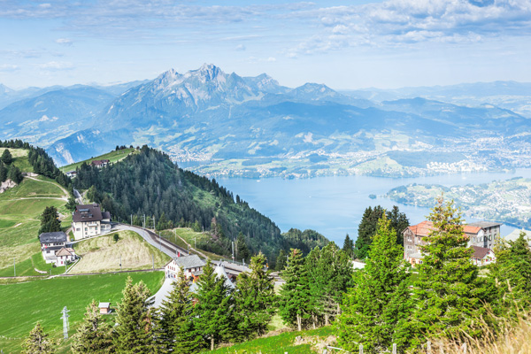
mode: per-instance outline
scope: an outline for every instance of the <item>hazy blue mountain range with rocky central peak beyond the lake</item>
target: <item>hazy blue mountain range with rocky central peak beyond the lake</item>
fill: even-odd
[[[207,175],[412,175],[430,173],[429,163],[459,161],[512,168],[531,163],[530,97],[531,84],[512,81],[290,89],[265,73],[242,77],[203,65],[108,87],[2,86],[0,139],[41,145],[59,165],[148,143]],[[426,163],[407,163],[422,151]]]

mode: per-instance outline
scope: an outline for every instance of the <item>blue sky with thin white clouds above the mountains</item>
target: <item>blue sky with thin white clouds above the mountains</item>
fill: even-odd
[[[12,89],[204,63],[289,87],[531,81],[531,0],[0,0],[0,34]]]

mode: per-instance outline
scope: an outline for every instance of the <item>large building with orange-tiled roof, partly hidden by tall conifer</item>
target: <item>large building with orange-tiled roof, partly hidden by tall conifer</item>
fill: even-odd
[[[463,225],[468,238],[468,246],[492,250],[492,245],[500,238],[499,223],[487,221]],[[422,221],[417,225],[406,227],[404,235],[404,259],[413,266],[422,263],[423,255],[419,246],[426,245],[426,237],[434,229],[431,221]]]

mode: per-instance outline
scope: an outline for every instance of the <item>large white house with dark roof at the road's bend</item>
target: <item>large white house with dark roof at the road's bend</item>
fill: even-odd
[[[111,231],[111,213],[102,212],[99,204],[77,205],[72,213],[72,232],[76,240]]]

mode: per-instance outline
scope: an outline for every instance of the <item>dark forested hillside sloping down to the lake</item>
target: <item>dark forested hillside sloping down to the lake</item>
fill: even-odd
[[[102,169],[81,165],[74,187],[89,189],[89,198],[101,203],[113,219],[129,220],[133,215],[140,225],[145,214],[148,225],[155,217],[158,229],[208,230],[212,240],[204,248],[220,254],[229,254],[240,233],[251,253],[261,250],[271,261],[279,250],[293,245],[271,219],[239,196],[215,180],[182,170],[165,153],[145,145],[138,154]]]

